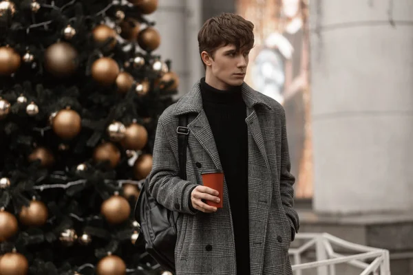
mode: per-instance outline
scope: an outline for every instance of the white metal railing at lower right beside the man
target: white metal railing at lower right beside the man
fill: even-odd
[[[293,256],[293,272],[302,275],[302,270],[317,268],[317,275],[336,275],[336,265],[347,263],[361,269],[360,275],[390,275],[390,256],[388,250],[370,248],[366,245],[350,243],[328,233],[299,233],[295,240],[302,242],[299,248],[290,248],[288,254]],[[354,251],[346,256],[332,249],[332,244]],[[310,248],[315,248],[316,261],[301,263],[301,255]],[[366,263],[366,260],[368,263]]]

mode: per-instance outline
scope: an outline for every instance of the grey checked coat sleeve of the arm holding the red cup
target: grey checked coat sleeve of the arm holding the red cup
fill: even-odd
[[[173,133],[177,135],[177,133]],[[190,192],[195,184],[180,179],[178,164],[178,146],[171,146],[162,122],[158,122],[153,144],[153,164],[149,173],[149,193],[162,206],[169,210],[187,214],[196,214],[190,208]],[[176,152],[173,151],[176,148]],[[174,154],[176,153],[176,154]]]

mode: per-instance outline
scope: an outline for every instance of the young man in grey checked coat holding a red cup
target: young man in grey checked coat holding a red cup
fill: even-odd
[[[284,109],[244,83],[253,23],[209,19],[198,34],[205,77],[159,118],[149,192],[178,211],[176,274],[292,274],[288,248],[299,229]],[[189,124],[187,180],[178,177],[178,119]],[[202,171],[224,171],[218,191]]]

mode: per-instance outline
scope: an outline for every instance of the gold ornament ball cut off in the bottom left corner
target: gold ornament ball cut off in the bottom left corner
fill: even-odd
[[[0,256],[1,275],[26,275],[28,270],[28,259],[22,254],[11,252]]]

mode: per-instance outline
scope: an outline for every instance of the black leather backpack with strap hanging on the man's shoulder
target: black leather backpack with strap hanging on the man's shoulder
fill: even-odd
[[[187,143],[189,129],[188,118],[181,115],[178,133],[178,155],[180,178],[187,179]],[[145,241],[145,249],[162,268],[169,272],[175,272],[175,245],[176,245],[176,221],[178,212],[173,212],[160,205],[151,197],[147,188],[148,178],[142,185],[138,201],[135,206],[135,219],[140,224],[140,234],[136,243]]]

